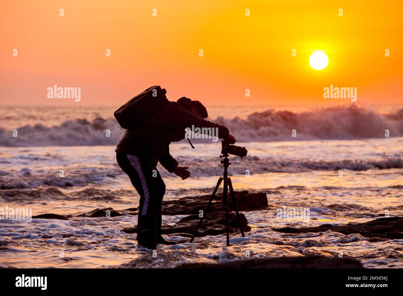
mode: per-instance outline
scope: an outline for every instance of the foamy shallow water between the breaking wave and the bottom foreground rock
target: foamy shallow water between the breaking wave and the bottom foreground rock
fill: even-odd
[[[359,234],[336,232],[283,234],[275,227],[345,224],[403,215],[403,138],[239,143],[244,159],[231,157],[235,190],[267,193],[269,208],[244,211],[250,232],[245,238],[171,236],[175,246],[160,246],[158,260],[137,246],[136,234],[121,232],[137,216],[0,220],[0,265],[3,267],[174,267],[183,262],[226,262],[250,257],[322,255],[353,257],[364,267],[403,267],[403,240],[368,242]],[[219,144],[171,144],[171,153],[190,166],[181,180],[159,168],[167,185],[165,199],[212,191],[222,173]],[[386,149],[388,147],[388,149]],[[138,206],[138,195],[117,167],[114,147],[0,148],[0,207],[27,207],[32,215],[77,215],[95,208]],[[383,151],[383,152],[379,152]],[[59,170],[64,170],[60,178]],[[250,171],[249,177],[245,170]],[[343,170],[343,177],[339,177]],[[44,191],[49,186],[57,190]],[[44,193],[45,192],[45,193]],[[276,209],[309,209],[309,219],[278,219]],[[164,215],[174,224],[184,215]],[[194,249],[194,246],[196,248]],[[134,261],[132,261],[134,260]]]

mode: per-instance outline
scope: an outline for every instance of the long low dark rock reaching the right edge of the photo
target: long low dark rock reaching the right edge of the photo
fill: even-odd
[[[379,218],[372,221],[359,224],[347,224],[332,226],[331,224],[323,224],[318,227],[283,227],[272,228],[274,231],[284,233],[307,233],[307,232],[324,232],[331,230],[332,232],[340,232],[342,234],[361,234],[368,238],[386,238],[386,239],[403,239],[403,217]]]

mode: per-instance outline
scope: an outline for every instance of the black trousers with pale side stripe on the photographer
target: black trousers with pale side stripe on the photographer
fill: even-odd
[[[161,237],[164,181],[155,161],[150,157],[116,153],[116,160],[140,195],[137,241],[143,246],[154,248],[158,238]]]

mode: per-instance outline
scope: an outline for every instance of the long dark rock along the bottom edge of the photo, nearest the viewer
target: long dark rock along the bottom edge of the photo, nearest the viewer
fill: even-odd
[[[177,268],[364,268],[350,258],[301,256],[280,258],[249,258],[226,263],[189,263]]]

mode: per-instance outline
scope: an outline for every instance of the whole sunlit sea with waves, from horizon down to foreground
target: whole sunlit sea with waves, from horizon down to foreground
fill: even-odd
[[[0,107],[1,209],[32,215],[79,215],[97,208],[138,207],[139,195],[116,164],[124,130],[116,106]],[[320,255],[350,257],[366,268],[403,267],[403,240],[370,242],[330,230],[285,234],[279,227],[362,223],[403,216],[403,106],[338,105],[326,108],[216,106],[209,118],[224,124],[246,157],[231,155],[236,191],[267,194],[269,207],[243,211],[245,237],[170,236],[176,245],[153,253],[123,228],[136,215],[60,219],[0,219],[0,267],[170,268],[251,258]],[[170,153],[190,178],[158,170],[165,200],[211,194],[222,176],[220,141],[171,143]],[[278,215],[303,209],[308,216]],[[292,211],[291,211],[292,212]],[[4,215],[3,215],[4,216]],[[173,225],[186,215],[163,215]]]

